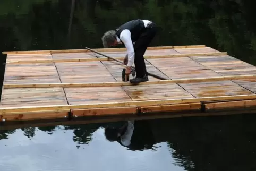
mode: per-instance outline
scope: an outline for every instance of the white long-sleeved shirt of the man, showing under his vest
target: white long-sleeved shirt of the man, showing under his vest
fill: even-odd
[[[147,24],[150,22],[149,20],[142,20],[144,22],[145,28],[147,27]],[[128,54],[128,63],[127,66],[132,66],[134,62],[134,49],[133,49],[133,42],[131,39],[131,32],[128,29],[123,30],[120,33],[120,39],[116,36],[118,44],[121,43],[120,39],[124,43],[125,47],[127,48],[127,54]]]

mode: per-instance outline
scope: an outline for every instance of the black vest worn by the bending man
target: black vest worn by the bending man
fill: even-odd
[[[136,40],[138,40],[141,33],[146,28],[145,28],[144,22],[140,19],[126,22],[116,29],[116,35],[118,36],[119,39],[120,39],[121,32],[125,29],[130,30],[132,42],[135,42]]]

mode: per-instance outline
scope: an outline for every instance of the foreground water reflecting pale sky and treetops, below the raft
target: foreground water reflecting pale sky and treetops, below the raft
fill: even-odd
[[[254,170],[255,124],[253,114],[134,121],[127,144],[107,140],[105,130],[125,132],[128,122],[16,129],[0,134],[0,165],[4,170],[26,168],[28,162],[29,170]]]

